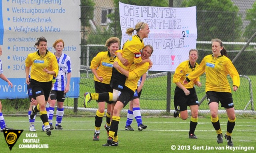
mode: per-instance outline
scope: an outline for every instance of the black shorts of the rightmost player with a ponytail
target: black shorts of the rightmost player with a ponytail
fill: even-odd
[[[206,95],[207,95],[208,105],[211,102],[218,102],[218,103],[220,102],[221,107],[224,107],[224,108],[234,107],[232,94],[230,92],[207,91]]]

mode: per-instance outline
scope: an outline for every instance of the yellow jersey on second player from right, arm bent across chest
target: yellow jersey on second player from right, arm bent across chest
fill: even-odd
[[[188,84],[183,84],[183,80],[193,71],[195,71],[198,68],[198,63],[195,64],[194,67],[192,67],[190,65],[189,60],[184,61],[182,63],[180,63],[178,65],[178,67],[175,70],[175,73],[173,75],[173,83],[177,83],[180,82],[185,88],[189,89],[189,88],[193,88],[195,82],[200,82],[200,78],[196,77],[192,80],[190,80],[190,82],[188,82]]]

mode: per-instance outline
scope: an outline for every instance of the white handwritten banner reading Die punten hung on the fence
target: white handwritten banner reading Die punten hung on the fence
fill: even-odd
[[[165,8],[119,2],[119,11],[121,46],[130,37],[125,33],[127,28],[134,28],[138,22],[149,25],[150,33],[144,44],[154,48],[150,71],[175,71],[182,61],[188,59],[189,50],[196,49],[196,6]]]

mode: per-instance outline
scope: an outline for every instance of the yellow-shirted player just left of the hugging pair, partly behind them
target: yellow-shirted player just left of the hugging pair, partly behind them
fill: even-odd
[[[112,75],[112,67],[113,63],[116,60],[115,52],[120,47],[120,40],[118,37],[110,37],[105,46],[107,47],[107,51],[102,51],[98,53],[91,61],[91,70],[94,74],[94,88],[96,93],[102,92],[112,92],[112,88],[110,87],[110,78]],[[111,111],[111,101],[108,100],[97,100],[98,102],[98,110],[95,116],[95,131],[93,140],[98,141],[100,135],[100,126],[102,124],[102,119],[105,111],[105,102],[107,103],[107,113],[106,113],[106,124],[105,129],[110,128],[110,111]]]

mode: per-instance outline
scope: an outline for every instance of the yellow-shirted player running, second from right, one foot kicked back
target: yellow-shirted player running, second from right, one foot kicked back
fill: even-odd
[[[201,87],[202,83],[200,82],[199,77],[194,78],[190,81],[189,84],[183,84],[183,80],[187,75],[192,73],[198,68],[198,63],[196,60],[198,59],[198,50],[190,49],[188,54],[189,60],[184,61],[178,65],[173,75],[173,80],[176,84],[176,88],[174,91],[174,117],[179,116],[182,120],[188,119],[188,109],[190,107],[191,110],[191,118],[190,118],[190,129],[188,132],[188,138],[197,139],[194,131],[196,129],[196,125],[198,122],[198,107],[199,102],[196,95],[196,90],[194,88],[194,84]]]

